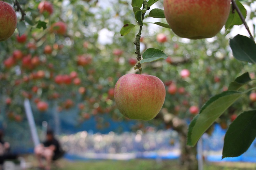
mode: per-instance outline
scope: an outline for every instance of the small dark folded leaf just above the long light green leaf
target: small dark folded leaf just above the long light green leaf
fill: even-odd
[[[252,79],[248,72],[240,75],[233,82],[231,82],[228,86],[228,90],[239,90],[240,87],[250,82]]]

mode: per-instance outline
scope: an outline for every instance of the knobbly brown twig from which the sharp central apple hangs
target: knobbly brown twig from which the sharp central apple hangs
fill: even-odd
[[[146,6],[148,6],[148,3],[146,0],[143,1],[143,9],[146,8]],[[149,10],[149,7],[147,7],[147,10]],[[142,14],[142,21],[144,20],[145,17],[145,13]],[[134,45],[136,46],[136,51],[135,54],[137,54],[137,64],[134,66],[134,70],[138,69],[140,71],[140,74],[142,73],[142,66],[141,66],[141,53],[140,53],[140,38],[141,38],[141,32],[142,32],[142,25],[140,25],[140,30],[139,33],[136,35],[135,41],[133,42]]]

